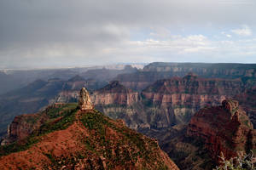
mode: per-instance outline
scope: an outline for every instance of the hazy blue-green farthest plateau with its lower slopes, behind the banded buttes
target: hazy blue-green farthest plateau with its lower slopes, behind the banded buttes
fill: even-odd
[[[143,90],[157,80],[184,77],[189,72],[205,78],[241,78],[246,86],[256,85],[256,65],[249,64],[202,64],[202,63],[151,63],[143,71],[123,74],[115,78],[127,88]]]

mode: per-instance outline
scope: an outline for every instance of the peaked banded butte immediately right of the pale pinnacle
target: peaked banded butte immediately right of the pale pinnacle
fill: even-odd
[[[140,94],[119,82],[110,82],[106,87],[96,90],[91,100],[97,110],[113,119],[123,119],[128,127],[149,127]]]

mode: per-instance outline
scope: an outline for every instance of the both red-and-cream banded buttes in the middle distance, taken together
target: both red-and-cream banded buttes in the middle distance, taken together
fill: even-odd
[[[206,79],[189,74],[157,81],[140,94],[112,82],[97,90],[92,101],[97,109],[125,120],[131,128],[166,128],[189,122],[201,107],[219,105],[243,89],[239,79]]]

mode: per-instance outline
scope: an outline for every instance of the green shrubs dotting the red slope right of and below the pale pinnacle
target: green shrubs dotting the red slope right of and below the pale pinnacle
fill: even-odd
[[[119,127],[107,116],[103,116],[101,112],[88,112],[80,117],[84,127],[90,129],[94,135],[84,137],[83,142],[92,154],[104,156],[107,158],[107,167],[111,168],[116,165],[130,164],[135,165],[138,159],[150,161],[158,161],[157,143],[148,138],[144,138],[143,134],[137,133],[128,127]],[[107,129],[113,129],[113,133],[118,133],[118,139],[110,139]],[[97,141],[97,142],[96,142]],[[135,144],[136,147],[129,146]],[[127,166],[128,166],[127,164]],[[158,169],[166,169],[163,162],[158,162]]]

